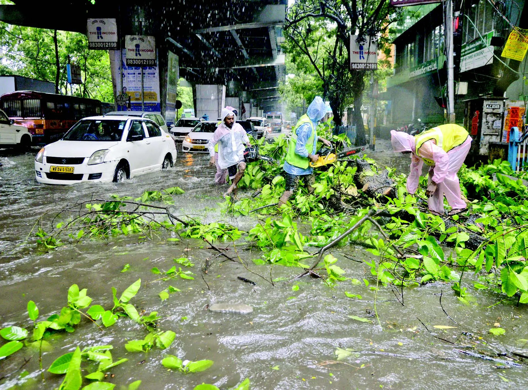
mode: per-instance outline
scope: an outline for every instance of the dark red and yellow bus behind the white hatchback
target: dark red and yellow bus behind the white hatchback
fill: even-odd
[[[101,115],[99,100],[35,91],[4,93],[0,108],[26,127],[36,144],[56,141],[78,120]]]

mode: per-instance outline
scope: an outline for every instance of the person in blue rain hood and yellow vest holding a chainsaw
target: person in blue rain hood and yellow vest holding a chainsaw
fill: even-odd
[[[310,160],[316,162],[319,158],[319,155],[315,154],[317,141],[323,142],[328,147],[331,146],[328,140],[317,137],[316,132],[317,122],[323,119],[325,114],[325,102],[320,96],[315,96],[313,102],[308,106],[306,114],[301,116],[294,128],[291,129],[288,153],[282,167],[284,169],[286,188],[279,199],[279,207],[282,204],[286,204],[288,198],[297,190],[300,177],[305,178],[304,184],[308,187],[309,192],[314,190],[312,187],[315,182],[313,168],[308,163]]]

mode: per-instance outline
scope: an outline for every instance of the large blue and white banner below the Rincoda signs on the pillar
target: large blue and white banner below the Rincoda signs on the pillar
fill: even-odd
[[[115,53],[113,61],[115,66],[114,74],[120,74],[122,80],[121,85],[119,83],[116,85],[118,111],[126,111],[128,109],[128,101],[130,102],[130,110],[141,111],[142,71],[143,93],[145,96],[144,111],[161,111],[159,100],[159,70],[157,65],[145,66],[143,68],[139,66],[128,66],[126,65],[126,50],[116,50],[113,53]],[[119,87],[121,87],[121,91],[119,91]]]

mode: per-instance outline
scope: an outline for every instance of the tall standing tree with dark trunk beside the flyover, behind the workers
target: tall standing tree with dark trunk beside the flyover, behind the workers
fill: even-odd
[[[365,70],[349,71],[350,36],[380,35],[397,20],[386,0],[296,0],[288,9],[284,33],[287,50],[304,55],[323,82],[323,91],[341,124],[348,102],[354,106],[358,144],[365,144],[361,116]]]

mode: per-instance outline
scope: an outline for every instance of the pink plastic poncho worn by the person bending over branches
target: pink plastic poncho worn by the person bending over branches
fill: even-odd
[[[466,159],[471,147],[471,137],[468,137],[461,145],[451,149],[449,152],[438,147],[433,140],[424,142],[420,147],[420,154],[435,162],[429,168],[428,184],[434,181],[437,184],[436,191],[428,199],[429,210],[439,214],[444,213],[444,195],[449,206],[453,209],[466,208],[466,202],[462,200],[460,182],[457,173]],[[420,174],[422,172],[423,160],[416,154],[414,137],[402,131],[391,131],[391,143],[394,152],[412,152],[411,169],[407,177],[407,191],[414,193],[418,189]]]

